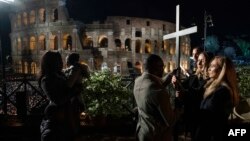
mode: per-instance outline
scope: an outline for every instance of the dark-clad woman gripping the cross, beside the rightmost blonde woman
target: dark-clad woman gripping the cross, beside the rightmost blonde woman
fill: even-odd
[[[203,87],[208,80],[207,69],[212,57],[207,52],[201,52],[197,57],[195,74],[190,74],[182,82],[173,79],[175,76],[172,78],[172,84],[180,93],[181,101],[184,104],[184,133],[186,136],[190,133],[191,139],[194,139],[196,133],[200,104],[204,94]]]

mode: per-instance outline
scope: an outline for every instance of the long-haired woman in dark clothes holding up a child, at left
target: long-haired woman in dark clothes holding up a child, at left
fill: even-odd
[[[49,104],[40,125],[41,141],[73,140],[68,118],[71,96],[62,68],[63,62],[59,52],[48,51],[43,55],[38,83],[48,97]]]

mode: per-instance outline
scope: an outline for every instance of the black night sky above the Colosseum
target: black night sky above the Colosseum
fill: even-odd
[[[198,2],[197,2],[198,1]],[[203,37],[204,12],[212,16],[214,27],[208,35],[250,34],[250,4],[247,0],[68,0],[72,18],[89,22],[110,16],[135,16],[175,22],[175,8],[180,4],[180,23],[198,26],[195,42]]]

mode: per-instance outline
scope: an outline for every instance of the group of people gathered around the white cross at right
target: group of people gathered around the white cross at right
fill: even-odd
[[[163,60],[154,54],[147,58],[134,86],[138,141],[178,141],[180,126],[192,141],[225,140],[229,115],[239,102],[234,64],[199,48],[192,59],[191,70],[180,78],[177,70],[163,77]]]

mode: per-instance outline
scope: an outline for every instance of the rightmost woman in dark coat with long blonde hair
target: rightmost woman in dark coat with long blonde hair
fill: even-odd
[[[229,115],[239,102],[236,71],[229,58],[216,56],[210,63],[208,76],[194,140],[223,141]]]

